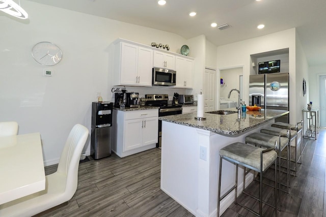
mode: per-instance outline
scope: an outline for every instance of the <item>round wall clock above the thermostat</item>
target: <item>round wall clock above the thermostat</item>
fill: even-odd
[[[32,48],[32,56],[42,66],[54,66],[61,61],[62,50],[51,42],[40,42]]]

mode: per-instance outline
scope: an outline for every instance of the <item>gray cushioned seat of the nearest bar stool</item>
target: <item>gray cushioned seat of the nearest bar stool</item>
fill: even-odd
[[[220,156],[233,159],[239,163],[255,168],[256,171],[260,171],[260,152],[262,150],[264,150],[264,148],[247,145],[241,142],[235,142],[222,148],[220,150]],[[273,164],[276,158],[276,151],[268,151],[263,153],[263,171]]]

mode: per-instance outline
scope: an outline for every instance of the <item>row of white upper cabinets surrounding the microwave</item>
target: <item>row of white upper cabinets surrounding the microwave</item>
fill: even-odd
[[[152,68],[177,72],[174,88],[192,88],[194,58],[117,39],[114,47],[114,85],[152,86]]]

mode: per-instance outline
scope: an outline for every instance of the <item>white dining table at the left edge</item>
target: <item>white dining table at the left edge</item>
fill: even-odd
[[[0,137],[0,204],[44,189],[40,133]]]

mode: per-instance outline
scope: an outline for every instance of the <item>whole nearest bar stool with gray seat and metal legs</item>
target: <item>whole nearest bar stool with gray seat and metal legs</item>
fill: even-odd
[[[275,145],[271,148],[259,148],[252,145],[247,145],[241,142],[235,142],[220,150],[220,171],[219,171],[219,190],[218,190],[218,217],[220,216],[220,202],[225,198],[229,193],[235,190],[234,193],[234,204],[239,204],[241,207],[253,212],[258,216],[262,216],[262,186],[263,186],[263,172],[265,172],[273,163],[276,164],[277,153],[275,151],[277,146],[277,141]],[[236,164],[235,167],[235,184],[221,197],[221,177],[222,177],[222,159]],[[247,206],[244,206],[240,203],[237,203],[237,183],[238,183],[238,166],[241,165],[244,167],[243,176],[246,176],[246,168],[257,171],[260,173],[259,181],[259,198],[254,197],[244,191],[245,184],[243,183],[243,193],[259,201],[259,213],[250,209]],[[275,206],[268,204],[267,205],[275,208],[275,216],[277,216],[277,178],[276,178],[276,167],[275,167],[275,187],[274,187],[274,196],[275,196]],[[245,178],[244,178],[245,179]]]

